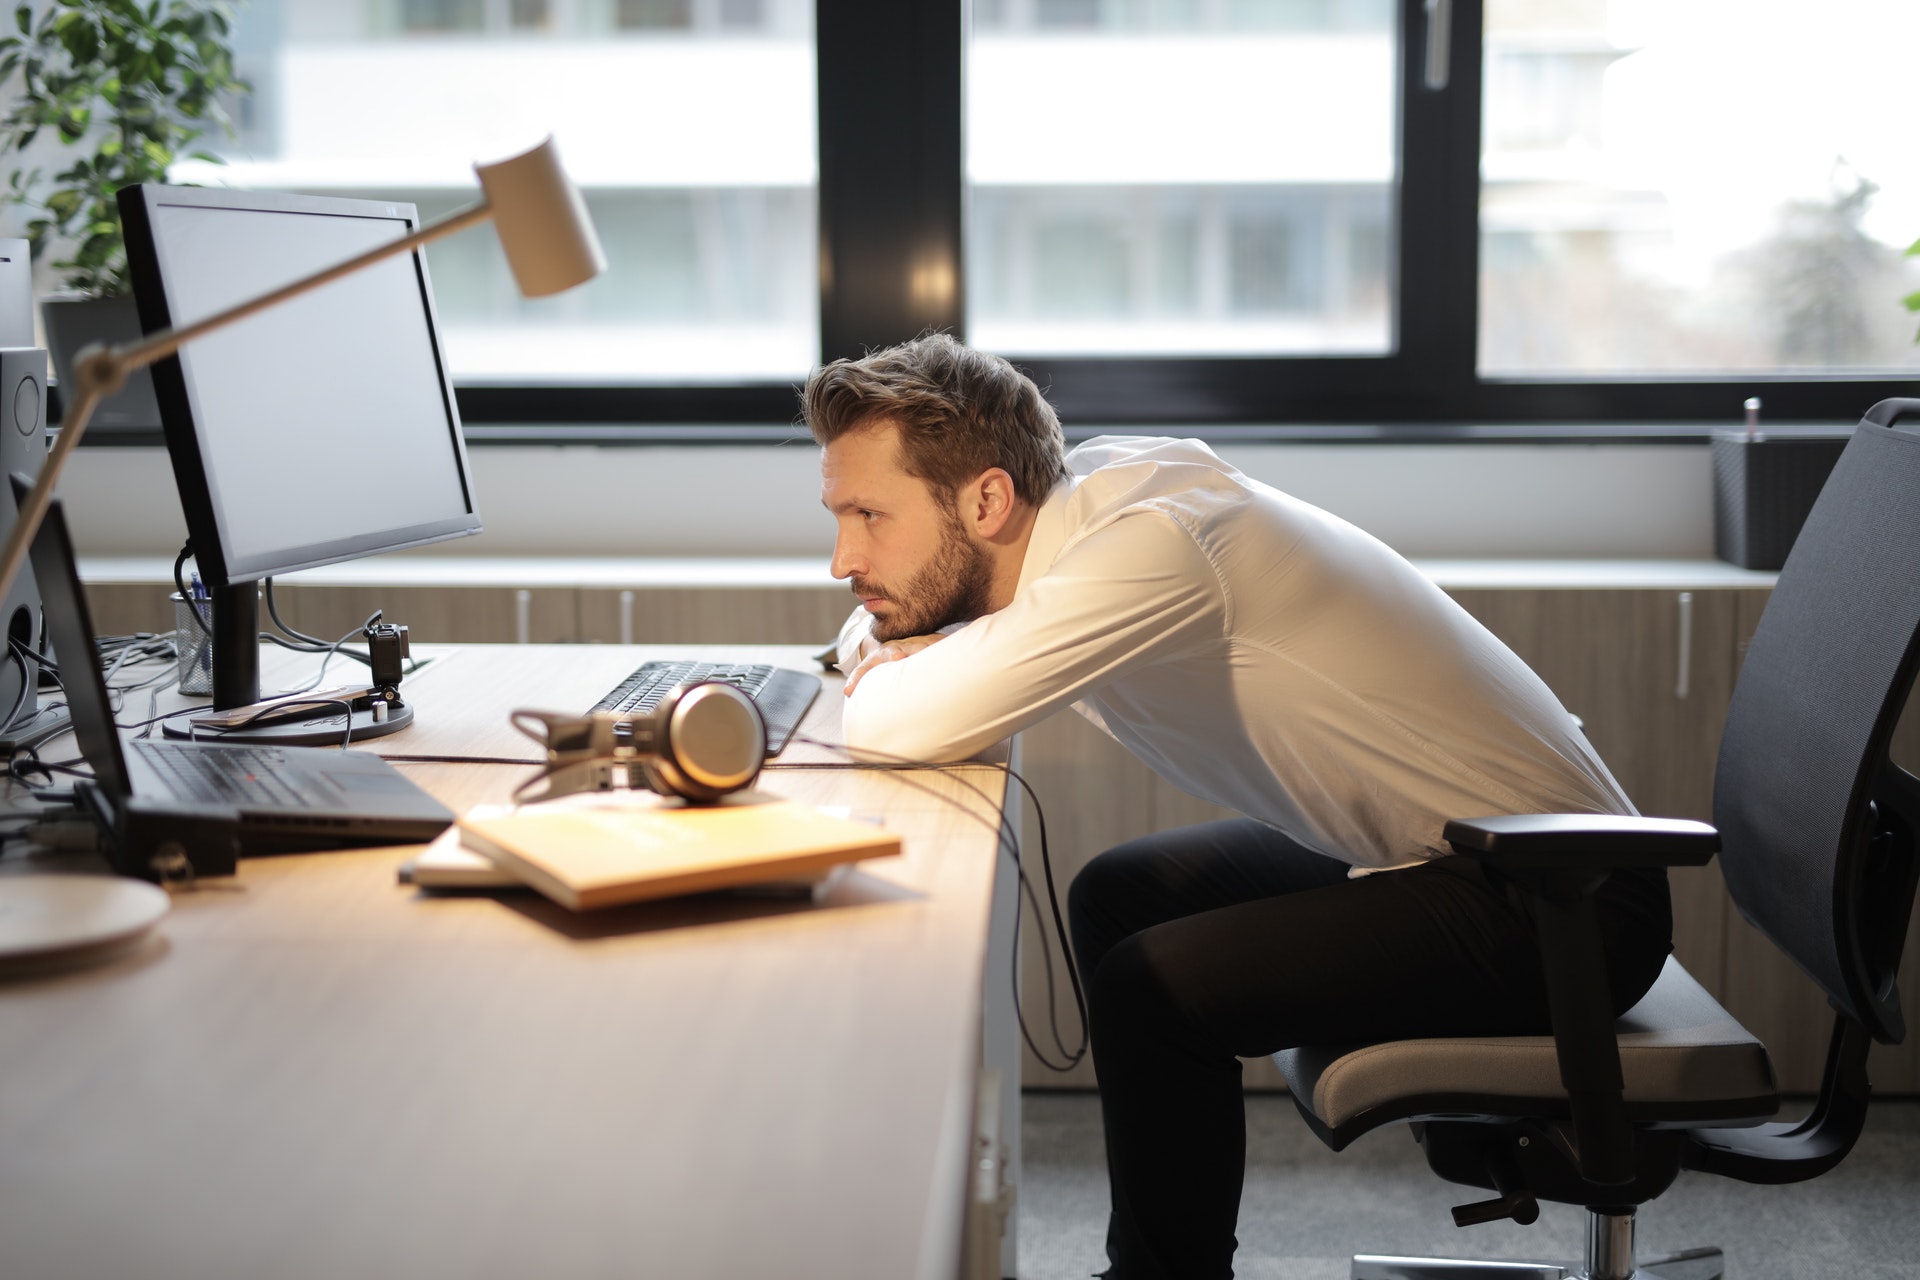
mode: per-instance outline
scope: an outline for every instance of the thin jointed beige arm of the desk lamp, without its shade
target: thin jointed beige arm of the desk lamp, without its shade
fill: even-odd
[[[361,267],[372,267],[374,263],[396,257],[397,253],[407,253],[442,236],[451,236],[457,230],[465,230],[486,219],[493,217],[493,207],[486,200],[480,203],[461,209],[459,213],[449,213],[447,217],[422,226],[411,236],[401,236],[378,248],[367,249],[359,257],[349,257],[344,263],[336,263],[323,271],[313,273],[292,284],[282,284],[271,294],[261,294],[252,301],[238,303],[227,311],[217,311],[204,320],[194,320],[184,328],[163,328],[157,334],[148,334],[140,342],[125,347],[100,347],[92,345],[79,353],[73,361],[73,390],[77,391],[73,407],[61,416],[60,436],[54,438],[54,447],[48,449],[46,461],[40,462],[40,476],[33,484],[33,491],[19,505],[13,514],[13,528],[8,532],[6,547],[0,547],[0,597],[13,587],[13,580],[19,576],[19,566],[27,560],[27,547],[33,543],[33,535],[40,530],[40,520],[46,518],[46,505],[54,501],[54,486],[60,484],[60,472],[67,464],[67,455],[73,453],[73,445],[81,443],[81,436],[86,432],[86,422],[94,416],[94,409],[108,395],[113,395],[127,384],[127,376],[146,368],[154,361],[167,359],[182,345],[194,338],[204,338],[217,328],[225,328],[234,320],[244,320],[250,315],[267,311],[269,307],[278,307],[280,303],[315,290],[323,284],[332,284],[342,276],[349,276]],[[6,486],[6,478],[0,476],[0,486]]]

